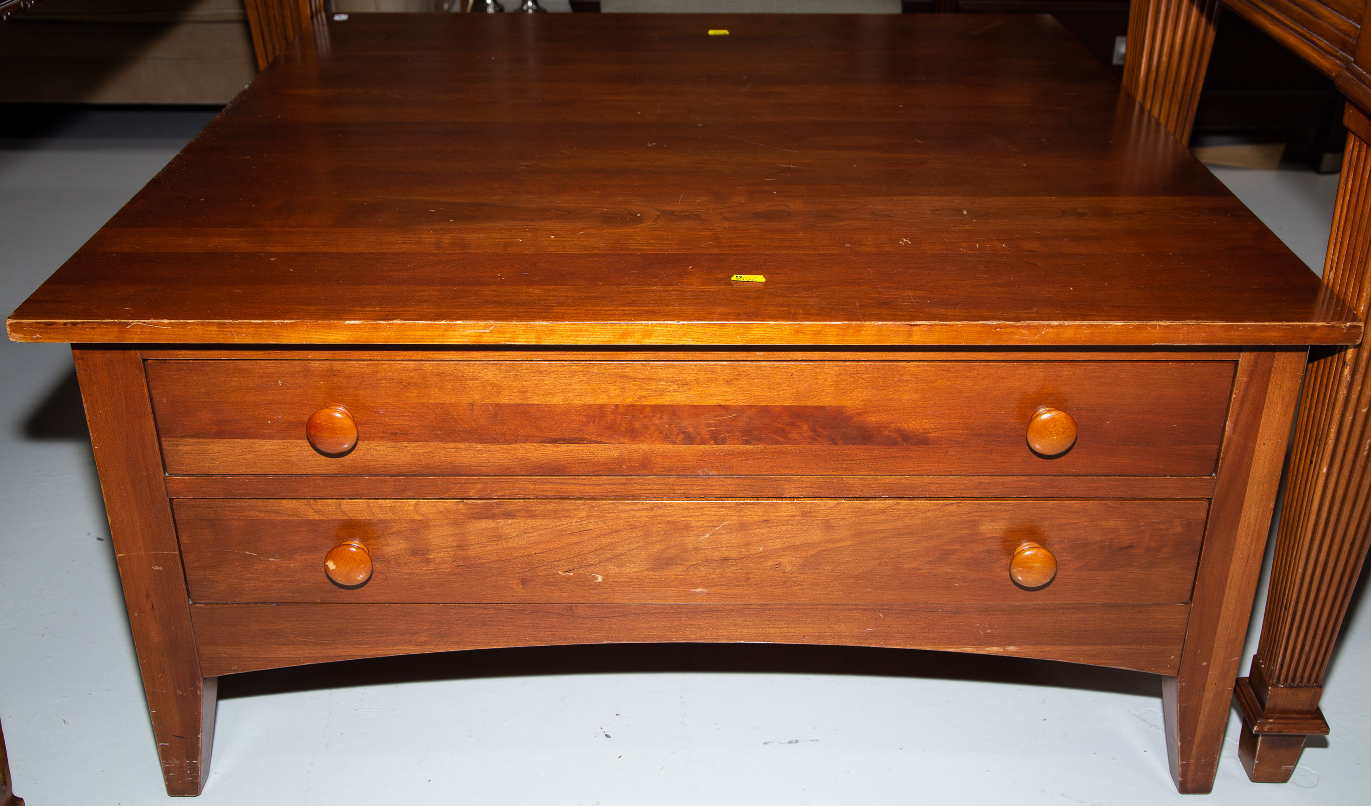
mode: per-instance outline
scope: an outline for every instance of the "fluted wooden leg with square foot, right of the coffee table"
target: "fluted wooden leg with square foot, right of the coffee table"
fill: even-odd
[[[1352,107],[1323,282],[1371,308],[1371,121]],[[1238,680],[1239,757],[1254,781],[1290,780],[1305,736],[1328,732],[1323,676],[1371,544],[1371,348],[1315,348],[1305,374],[1261,640]]]

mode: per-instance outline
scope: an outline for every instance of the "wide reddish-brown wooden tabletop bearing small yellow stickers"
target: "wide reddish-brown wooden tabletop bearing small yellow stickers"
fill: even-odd
[[[1052,18],[990,15],[330,22],[8,329],[239,344],[1361,336]]]

